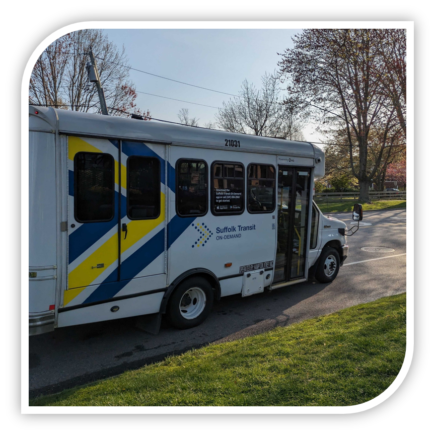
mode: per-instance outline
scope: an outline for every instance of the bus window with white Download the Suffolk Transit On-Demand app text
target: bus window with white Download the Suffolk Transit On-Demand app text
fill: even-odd
[[[236,162],[213,162],[211,166],[211,212],[241,214],[245,209],[245,168]]]

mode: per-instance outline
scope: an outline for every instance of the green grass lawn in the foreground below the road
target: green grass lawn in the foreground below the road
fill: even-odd
[[[401,294],[172,356],[30,405],[356,405],[394,381],[405,338]]]

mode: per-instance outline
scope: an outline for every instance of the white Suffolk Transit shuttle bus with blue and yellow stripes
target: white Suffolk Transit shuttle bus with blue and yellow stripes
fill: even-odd
[[[347,229],[313,202],[324,168],[308,142],[29,106],[29,334],[189,328],[224,296],[332,281]]]

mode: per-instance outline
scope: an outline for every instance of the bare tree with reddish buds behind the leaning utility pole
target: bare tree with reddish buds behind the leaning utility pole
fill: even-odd
[[[29,102],[81,112],[100,112],[97,88],[88,81],[86,63],[92,47],[109,114],[150,116],[135,104],[125,49],[118,49],[100,29],[71,32],[50,44],[36,61],[29,83]]]

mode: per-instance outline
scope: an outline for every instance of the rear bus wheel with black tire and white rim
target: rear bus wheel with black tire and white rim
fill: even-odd
[[[213,289],[205,278],[197,276],[188,278],[177,286],[168,302],[166,313],[172,326],[188,329],[200,325],[210,314],[212,306]]]

